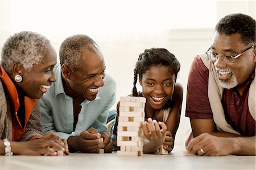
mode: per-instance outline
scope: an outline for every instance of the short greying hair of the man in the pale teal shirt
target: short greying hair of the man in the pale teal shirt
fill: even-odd
[[[97,47],[96,42],[87,35],[78,34],[70,36],[60,45],[60,64],[67,65],[71,72],[75,72],[76,69],[82,67],[80,61],[82,51],[88,49],[91,52],[96,52]]]

